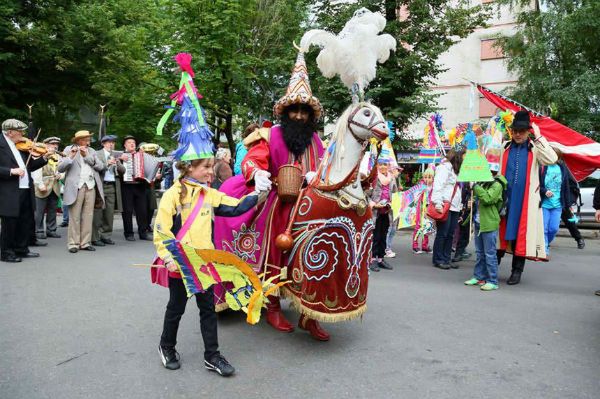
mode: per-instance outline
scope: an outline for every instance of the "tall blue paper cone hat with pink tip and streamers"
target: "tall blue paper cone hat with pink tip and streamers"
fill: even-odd
[[[214,156],[213,132],[206,123],[204,110],[200,107],[198,90],[194,85],[194,71],[192,69],[192,56],[188,53],[179,53],[175,61],[181,70],[179,90],[171,95],[171,105],[156,126],[156,135],[161,136],[163,129],[177,105],[181,106],[179,113],[173,118],[181,124],[175,134],[179,142],[178,148],[173,152],[173,158],[180,161],[212,158]]]

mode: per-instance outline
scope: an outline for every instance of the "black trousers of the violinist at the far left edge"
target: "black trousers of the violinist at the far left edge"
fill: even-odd
[[[24,254],[29,252],[29,240],[33,233],[35,237],[35,223],[33,204],[31,203],[30,189],[19,189],[19,216],[3,216],[0,220],[0,247],[2,256],[9,254]]]

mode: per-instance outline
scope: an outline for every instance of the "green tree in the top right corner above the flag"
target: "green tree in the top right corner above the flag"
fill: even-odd
[[[598,139],[600,134],[600,2],[548,0],[521,6],[514,36],[503,38],[509,68],[519,76],[515,100]]]

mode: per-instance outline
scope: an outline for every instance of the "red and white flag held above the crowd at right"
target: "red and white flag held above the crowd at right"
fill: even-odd
[[[487,87],[478,84],[477,88],[485,98],[502,110],[528,111],[531,122],[539,126],[542,136],[552,147],[563,153],[565,163],[577,181],[585,179],[600,168],[599,143]]]

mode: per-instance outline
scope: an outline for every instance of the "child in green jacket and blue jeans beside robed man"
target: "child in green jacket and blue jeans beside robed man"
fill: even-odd
[[[500,227],[500,210],[504,203],[507,181],[499,174],[500,164],[490,162],[494,176],[491,182],[477,183],[473,187],[473,225],[477,262],[473,277],[465,285],[480,286],[482,291],[498,289],[498,258],[496,241]]]

